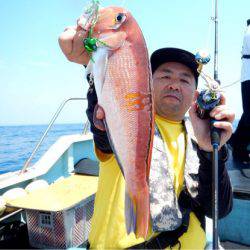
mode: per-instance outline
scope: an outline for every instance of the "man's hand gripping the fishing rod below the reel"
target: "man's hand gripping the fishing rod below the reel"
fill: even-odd
[[[213,147],[211,145],[210,139],[210,122],[209,119],[200,119],[197,116],[197,104],[196,100],[199,92],[195,92],[194,100],[189,110],[189,116],[193,125],[194,135],[197,139],[197,143],[200,149],[212,152]],[[235,114],[232,110],[226,106],[225,96],[221,94],[220,105],[216,106],[210,112],[211,118],[217,120],[214,123],[216,128],[221,129],[221,140],[219,149],[229,140],[232,135],[233,127],[232,123],[234,121]]]

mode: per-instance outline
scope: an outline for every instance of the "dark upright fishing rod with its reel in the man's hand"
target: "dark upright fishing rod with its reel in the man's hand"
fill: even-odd
[[[210,61],[206,51],[199,51],[195,58],[199,64],[198,72],[206,82],[206,90],[202,90],[197,98],[197,115],[201,119],[210,119],[210,138],[213,147],[212,160],[212,218],[213,218],[213,249],[219,249],[218,237],[218,148],[220,145],[220,130],[214,127],[215,119],[209,113],[220,104],[220,82],[218,79],[218,0],[215,1],[215,13],[212,20],[215,25],[214,38],[214,77],[211,78],[202,71],[203,65]]]

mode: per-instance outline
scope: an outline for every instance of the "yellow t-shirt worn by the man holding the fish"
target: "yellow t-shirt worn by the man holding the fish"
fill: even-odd
[[[174,186],[179,195],[183,186],[185,164],[185,130],[182,123],[156,116],[156,124],[165,141],[169,163],[174,168]],[[125,181],[114,155],[96,150],[100,159],[98,190],[95,198],[92,227],[89,234],[91,248],[128,248],[140,244],[134,233],[127,235],[125,226]],[[148,239],[156,234],[150,227]],[[188,231],[180,237],[181,249],[204,249],[205,232],[194,213],[190,213]],[[178,249],[174,247],[173,249]]]

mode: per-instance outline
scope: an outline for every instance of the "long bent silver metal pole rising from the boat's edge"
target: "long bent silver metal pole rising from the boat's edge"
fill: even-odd
[[[66,99],[64,100],[61,105],[59,106],[58,110],[56,111],[56,113],[54,114],[54,116],[52,117],[50,123],[49,123],[49,126],[47,127],[46,131],[43,133],[43,136],[42,138],[40,139],[40,141],[37,143],[35,149],[33,150],[33,152],[31,153],[31,156],[29,157],[29,159],[25,162],[20,174],[24,173],[26,168],[29,166],[31,160],[33,159],[35,153],[37,152],[38,148],[40,147],[40,145],[42,144],[42,142],[44,141],[44,138],[46,137],[46,135],[48,134],[50,128],[52,127],[52,125],[54,124],[56,118],[58,117],[58,115],[60,114],[60,112],[62,111],[63,107],[65,106],[65,104],[68,102],[68,101],[72,101],[72,100],[86,100],[86,98],[69,98],[69,99]]]

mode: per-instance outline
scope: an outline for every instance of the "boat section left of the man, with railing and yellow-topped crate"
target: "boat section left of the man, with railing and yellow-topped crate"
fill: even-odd
[[[60,105],[23,169],[0,175],[0,195],[7,197],[8,200],[5,211],[0,216],[1,249],[69,248],[86,244],[99,172],[98,162],[93,151],[93,137],[88,132],[87,126],[85,126],[82,134],[60,137],[35,164],[29,166],[64,105],[68,101],[79,99],[84,100],[84,98],[70,98]],[[38,183],[40,187],[36,185]],[[44,183],[47,183],[47,185],[44,185]],[[29,190],[32,185],[35,190]],[[77,190],[78,188],[80,191]],[[17,195],[20,190],[27,190],[27,193],[20,197]],[[9,195],[10,192],[12,192],[11,195]],[[17,196],[15,197],[15,195]],[[36,197],[38,199],[32,201],[32,195],[33,199]],[[72,196],[74,196],[73,200]],[[61,219],[65,220],[65,223],[64,225],[60,223],[54,225],[55,230],[51,231],[54,239],[50,237],[51,240],[48,241],[39,225],[33,228],[30,220],[34,217],[34,213],[39,218],[45,216],[46,220],[50,217],[54,220],[54,215],[61,214]],[[84,213],[86,213],[85,217],[83,216]],[[79,221],[73,222],[77,216]],[[66,228],[65,225],[70,224],[70,219],[72,225]],[[49,228],[53,223],[43,226]],[[68,232],[72,229],[76,229],[76,233],[80,234],[75,240],[73,239],[74,235],[70,239],[67,237]],[[33,235],[35,238],[31,239],[34,230],[41,231],[37,235]],[[58,233],[56,230],[58,230]],[[63,230],[65,232],[60,233]],[[60,234],[64,234],[63,237]],[[61,245],[58,245],[58,242]]]

